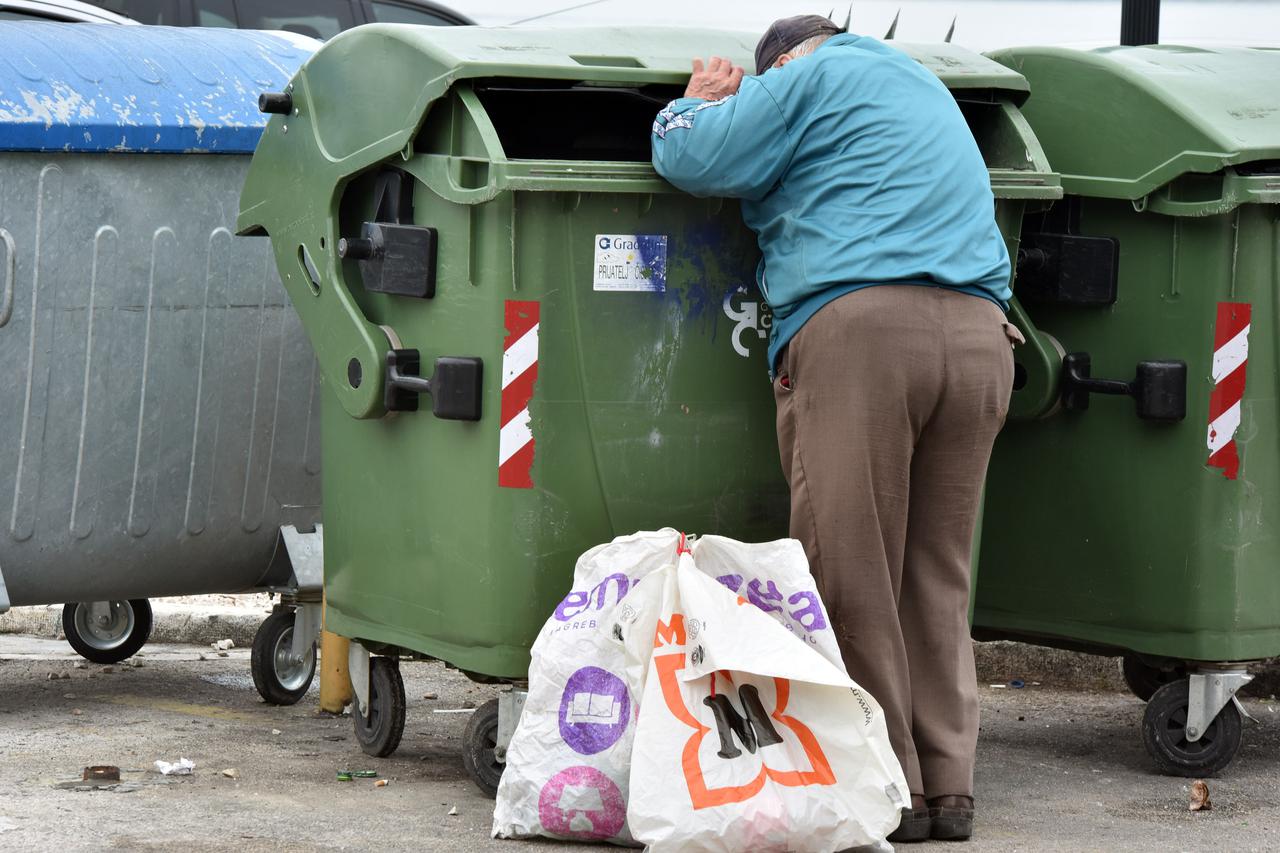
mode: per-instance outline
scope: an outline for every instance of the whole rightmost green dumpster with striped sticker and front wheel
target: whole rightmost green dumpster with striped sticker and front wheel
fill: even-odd
[[[993,58],[1062,175],[1016,293],[1066,357],[996,443],[975,633],[1124,654],[1157,763],[1211,774],[1280,654],[1280,53]]]

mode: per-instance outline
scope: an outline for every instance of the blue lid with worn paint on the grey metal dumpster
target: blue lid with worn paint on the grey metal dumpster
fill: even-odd
[[[0,151],[253,151],[320,42],[293,33],[0,22]]]

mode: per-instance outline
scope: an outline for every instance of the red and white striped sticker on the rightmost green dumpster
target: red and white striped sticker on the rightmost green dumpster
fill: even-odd
[[[1234,480],[1240,471],[1235,430],[1240,428],[1244,369],[1249,362],[1248,302],[1219,302],[1213,327],[1213,393],[1208,398],[1208,466]]]

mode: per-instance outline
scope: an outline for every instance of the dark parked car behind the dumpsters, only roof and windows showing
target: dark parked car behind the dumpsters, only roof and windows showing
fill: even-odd
[[[93,5],[145,24],[287,29],[312,38],[332,38],[364,23],[475,23],[428,0],[93,0]]]

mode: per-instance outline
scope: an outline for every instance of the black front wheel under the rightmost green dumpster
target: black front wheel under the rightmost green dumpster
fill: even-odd
[[[1199,740],[1187,739],[1187,679],[1170,681],[1147,702],[1142,716],[1142,742],[1160,770],[1170,776],[1212,776],[1240,748],[1240,712],[1228,702]]]

